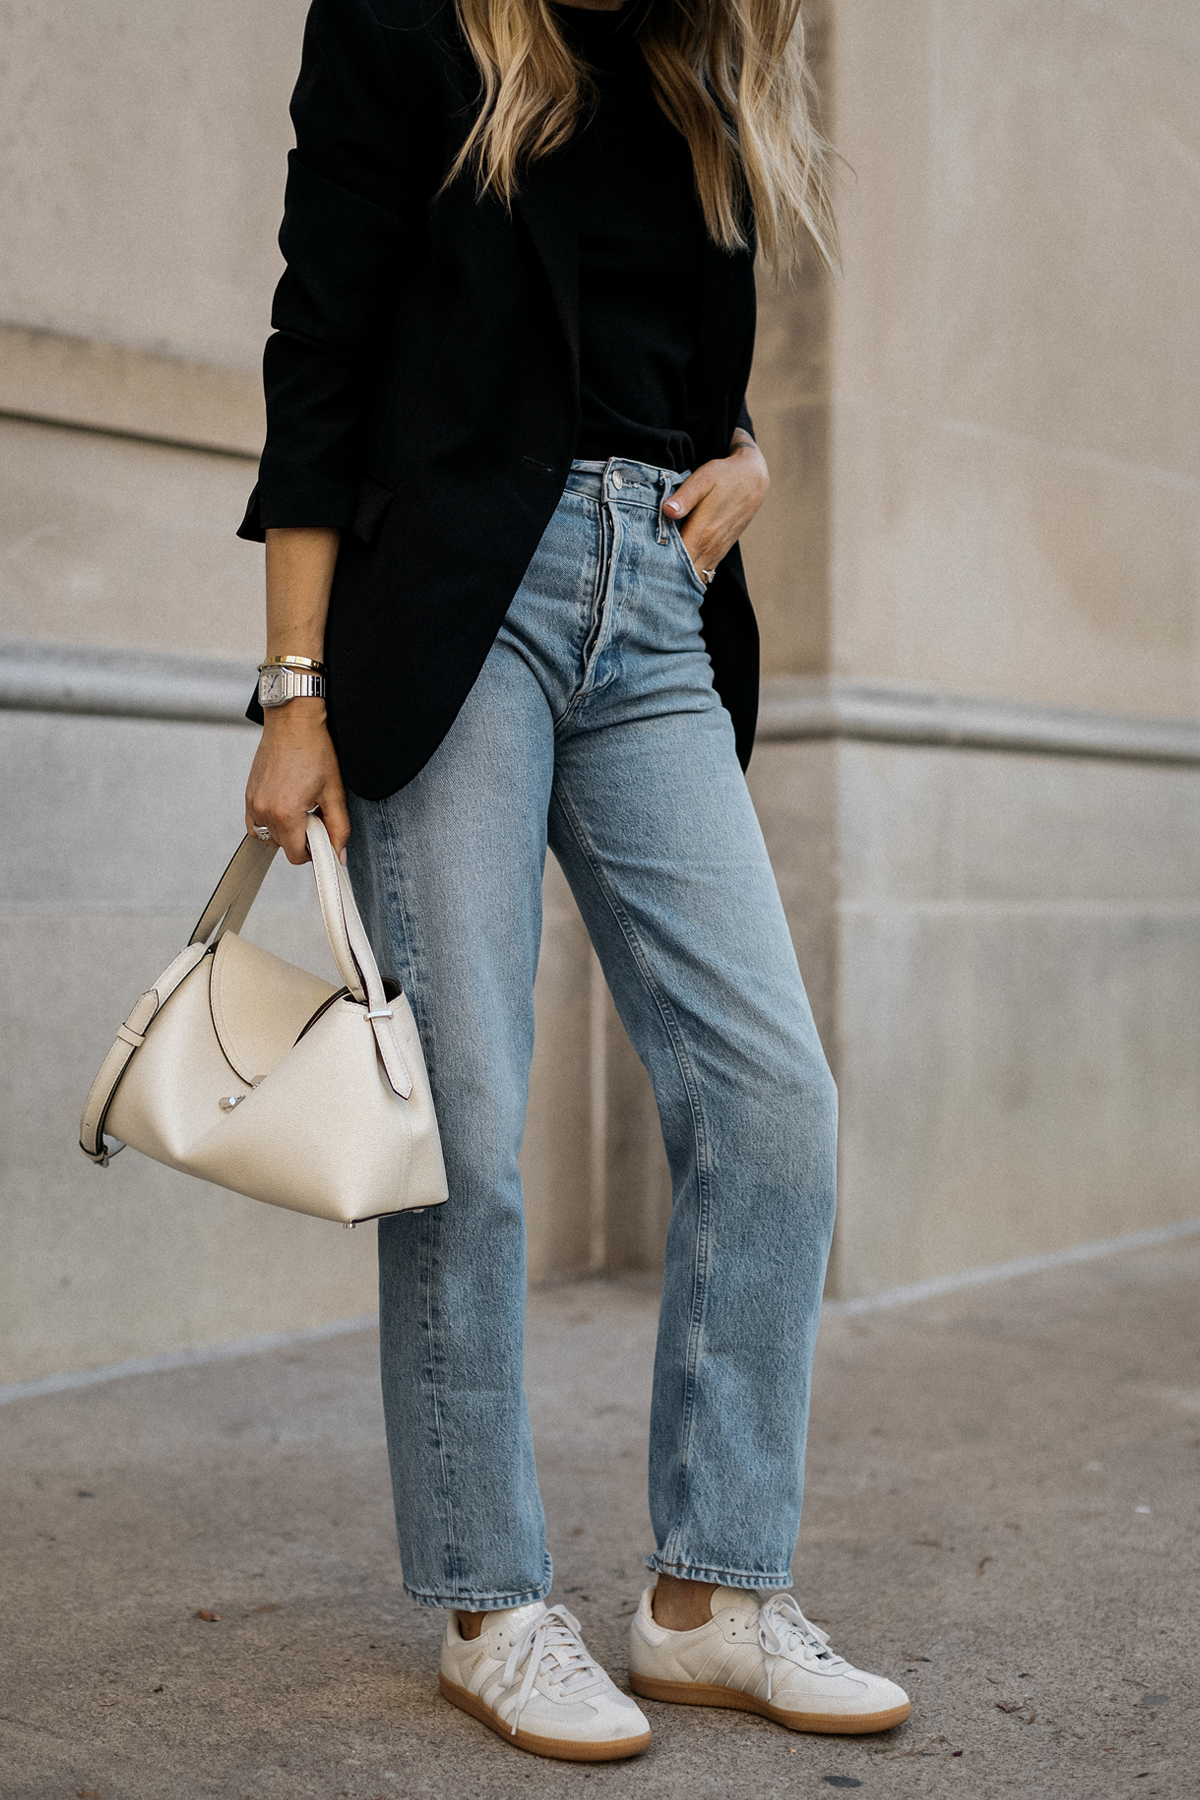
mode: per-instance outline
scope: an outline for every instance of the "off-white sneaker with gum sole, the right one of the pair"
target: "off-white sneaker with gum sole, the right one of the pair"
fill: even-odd
[[[831,1651],[790,1593],[718,1588],[696,1631],[655,1624],[651,1595],[630,1620],[630,1687],[644,1699],[738,1706],[792,1732],[887,1732],[912,1712],[901,1687]]]

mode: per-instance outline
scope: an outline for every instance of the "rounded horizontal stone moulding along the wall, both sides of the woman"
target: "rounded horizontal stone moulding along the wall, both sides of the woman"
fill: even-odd
[[[254,664],[171,650],[0,639],[0,709],[243,724]],[[833,680],[766,680],[759,742],[813,738],[1200,765],[1200,722]]]

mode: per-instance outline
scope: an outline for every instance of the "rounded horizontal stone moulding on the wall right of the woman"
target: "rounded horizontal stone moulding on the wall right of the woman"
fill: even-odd
[[[831,677],[765,680],[757,736],[761,743],[846,738],[864,743],[1200,763],[1200,720],[1088,713]]]

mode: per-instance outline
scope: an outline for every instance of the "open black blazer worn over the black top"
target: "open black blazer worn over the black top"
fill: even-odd
[[[313,0],[263,358],[266,448],[241,536],[344,533],[327,709],[344,779],[367,799],[410,781],[453,724],[579,430],[578,241],[556,158],[533,166],[511,214],[470,176],[439,193],[477,101],[452,0]],[[709,243],[702,281],[693,436],[707,461],[747,421],[752,254]],[[703,632],[745,767],[757,628],[736,547]]]

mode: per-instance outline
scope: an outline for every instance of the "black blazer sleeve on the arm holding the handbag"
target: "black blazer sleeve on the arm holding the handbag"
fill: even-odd
[[[291,97],[284,274],[263,355],[266,446],[239,536],[354,518],[369,371],[414,212],[414,121],[369,0],[313,0]]]

